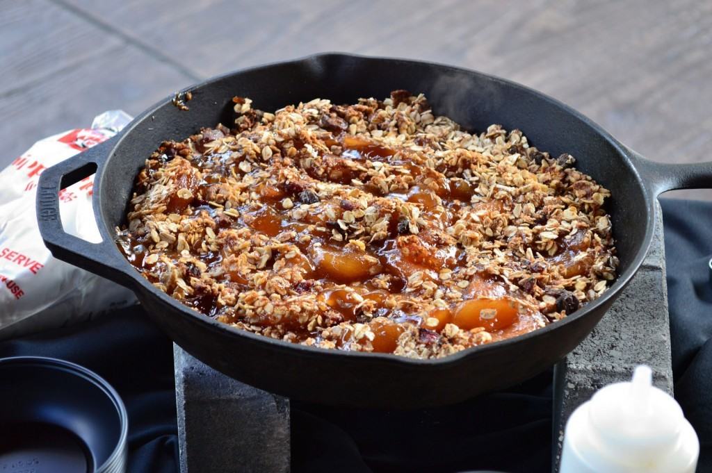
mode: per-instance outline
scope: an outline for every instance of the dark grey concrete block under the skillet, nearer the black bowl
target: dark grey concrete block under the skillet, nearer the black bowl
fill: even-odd
[[[173,355],[181,473],[289,472],[289,400]]]

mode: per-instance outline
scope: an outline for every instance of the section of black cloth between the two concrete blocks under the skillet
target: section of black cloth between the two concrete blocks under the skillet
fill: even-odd
[[[550,472],[553,373],[444,408],[292,403],[295,472]]]

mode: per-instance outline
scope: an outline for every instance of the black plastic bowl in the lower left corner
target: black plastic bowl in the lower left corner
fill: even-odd
[[[55,358],[1,358],[0,386],[0,472],[125,472],[126,408],[95,373]]]

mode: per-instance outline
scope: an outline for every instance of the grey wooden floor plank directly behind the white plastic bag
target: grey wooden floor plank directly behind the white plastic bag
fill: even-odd
[[[135,48],[116,46],[50,80],[0,98],[0,169],[38,139],[88,127],[105,110],[137,115],[162,97],[192,83]]]

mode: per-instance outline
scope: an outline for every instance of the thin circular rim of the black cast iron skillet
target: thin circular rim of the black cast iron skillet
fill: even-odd
[[[537,336],[544,336],[545,334],[548,334],[548,332],[556,330],[558,327],[565,325],[565,324],[570,324],[580,317],[585,317],[587,314],[590,312],[595,311],[598,307],[602,306],[605,304],[608,299],[611,299],[614,297],[620,290],[623,289],[625,285],[628,284],[628,282],[631,280],[633,275],[639,270],[639,267],[642,265],[642,262],[644,260],[644,257],[648,251],[648,248],[650,246],[651,240],[652,240],[652,235],[653,235],[653,230],[654,230],[654,209],[653,209],[653,200],[656,196],[656,191],[651,189],[649,185],[646,185],[646,183],[643,181],[639,174],[639,169],[637,169],[636,165],[642,162],[642,156],[639,156],[638,154],[632,152],[632,150],[628,149],[625,147],[623,144],[618,142],[614,137],[612,137],[608,132],[606,132],[602,127],[600,127],[598,124],[593,122],[591,119],[588,117],[585,117],[585,115],[582,115],[580,112],[577,112],[576,110],[572,109],[568,105],[565,105],[564,103],[560,102],[559,100],[554,99],[553,97],[549,97],[548,95],[543,94],[542,92],[538,92],[537,90],[533,90],[529,87],[525,87],[524,85],[520,85],[518,83],[514,83],[510,80],[506,80],[503,78],[498,78],[493,75],[485,74],[485,73],[479,73],[475,70],[470,70],[467,68],[459,68],[455,67],[452,65],[444,65],[440,63],[433,63],[429,61],[420,61],[420,60],[410,60],[410,59],[400,59],[400,58],[382,58],[382,57],[374,57],[374,56],[364,56],[364,55],[352,55],[352,54],[345,54],[345,53],[318,53],[314,55],[308,55],[305,56],[304,58],[298,58],[295,60],[287,60],[287,61],[278,61],[274,63],[268,63],[265,65],[258,65],[252,68],[244,68],[240,70],[236,70],[231,73],[226,73],[224,75],[219,75],[214,78],[209,78],[207,80],[204,80],[203,82],[197,84],[197,85],[191,85],[190,87],[186,87],[182,89],[179,93],[184,93],[184,92],[193,92],[195,96],[197,94],[195,92],[199,92],[199,90],[202,87],[207,87],[210,86],[216,82],[219,82],[220,80],[223,80],[225,78],[229,78],[233,75],[236,74],[241,74],[241,73],[256,73],[261,70],[268,70],[269,68],[273,67],[274,65],[300,65],[300,64],[308,64],[308,63],[316,63],[318,61],[323,61],[323,60],[328,60],[329,58],[335,58],[335,59],[349,59],[349,58],[357,58],[361,60],[375,60],[375,61],[388,61],[390,63],[394,63],[394,65],[398,64],[423,64],[423,65],[436,65],[439,68],[443,68],[444,70],[451,70],[453,72],[457,73],[466,73],[466,74],[473,74],[473,75],[478,75],[481,77],[486,78],[486,80],[490,80],[494,83],[503,83],[508,85],[508,87],[513,87],[515,89],[521,90],[529,95],[535,95],[538,97],[538,99],[543,100],[545,102],[549,102],[552,105],[555,105],[555,107],[559,107],[560,109],[564,110],[567,112],[569,115],[574,117],[575,119],[580,120],[581,122],[584,122],[588,127],[592,128],[597,134],[599,134],[601,137],[603,137],[614,149],[616,152],[621,154],[622,156],[627,158],[627,161],[629,163],[629,170],[631,171],[632,175],[635,176],[637,179],[639,185],[641,188],[644,190],[644,196],[646,198],[646,208],[648,208],[648,212],[646,214],[646,219],[645,219],[645,225],[646,225],[646,232],[645,232],[645,238],[642,241],[641,245],[639,246],[639,250],[637,251],[637,254],[634,255],[631,265],[629,265],[628,269],[623,272],[621,275],[618,275],[617,279],[614,281],[614,284],[612,287],[609,287],[606,292],[602,294],[601,297],[596,299],[595,301],[587,303],[584,307],[578,309],[574,314],[571,314],[570,316],[565,317],[564,319],[561,319],[559,321],[555,321],[552,324],[549,324],[545,327],[542,327],[540,329],[536,329],[534,331],[530,331],[527,334],[515,336],[511,339],[506,339],[502,341],[496,341],[490,344],[484,344],[480,346],[474,346],[469,349],[465,349],[463,351],[459,351],[456,354],[452,354],[449,356],[446,356],[444,358],[436,358],[436,359],[419,359],[419,358],[407,358],[404,356],[397,356],[394,354],[379,354],[379,353],[370,353],[370,352],[360,352],[360,351],[340,351],[340,350],[335,350],[335,349],[321,349],[313,346],[305,346],[305,345],[300,345],[300,344],[294,344],[288,341],[282,341],[278,339],[271,339],[266,336],[258,335],[258,334],[253,334],[249,331],[246,330],[241,330],[237,329],[234,326],[229,326],[228,324],[224,324],[220,321],[217,321],[216,319],[212,319],[211,317],[206,316],[205,314],[202,314],[201,312],[194,311],[193,309],[189,309],[187,306],[184,304],[181,304],[177,299],[173,299],[170,297],[168,294],[160,291],[159,289],[156,289],[153,287],[153,285],[145,279],[145,277],[142,277],[140,273],[135,270],[135,267],[130,265],[130,262],[125,259],[123,255],[121,255],[118,251],[117,248],[115,248],[114,241],[115,241],[115,235],[112,235],[109,233],[107,225],[103,221],[103,218],[101,218],[102,212],[100,209],[100,204],[99,204],[99,199],[94,199],[93,201],[93,206],[94,206],[94,213],[95,216],[98,220],[98,228],[100,231],[100,234],[102,235],[103,238],[103,245],[108,246],[113,246],[114,248],[108,249],[110,251],[114,251],[116,253],[116,256],[120,257],[118,259],[122,260],[122,265],[124,265],[125,270],[122,272],[127,275],[130,278],[130,284],[132,285],[132,289],[137,289],[139,292],[142,294],[151,294],[152,296],[158,297],[159,299],[162,300],[162,302],[171,305],[175,309],[178,309],[180,312],[183,314],[186,314],[188,317],[192,317],[193,321],[202,324],[206,327],[209,327],[209,329],[216,331],[216,332],[221,332],[221,333],[229,333],[232,336],[235,337],[246,337],[247,339],[250,339],[251,341],[258,343],[258,344],[267,344],[271,345],[273,349],[277,349],[279,351],[292,351],[292,350],[299,350],[303,352],[307,352],[310,354],[313,354],[314,356],[333,356],[333,357],[341,357],[345,360],[353,361],[355,359],[361,358],[364,361],[369,360],[369,361],[375,361],[378,360],[382,363],[393,363],[393,364],[398,364],[402,366],[409,366],[409,367],[414,367],[414,366],[430,366],[430,367],[435,367],[435,366],[440,366],[443,364],[456,364],[456,363],[461,363],[464,361],[466,358],[469,358],[471,356],[477,356],[481,352],[487,352],[487,351],[501,351],[501,350],[506,350],[508,349],[511,345],[517,344],[520,341],[525,341],[528,339],[532,339],[533,337]],[[167,97],[164,100],[161,100],[157,102],[155,105],[152,105],[149,109],[147,109],[145,112],[140,114],[138,117],[132,120],[130,124],[125,127],[125,129],[120,132],[120,134],[117,135],[114,139],[111,139],[110,142],[112,142],[111,146],[108,149],[105,149],[104,152],[106,153],[107,157],[105,158],[106,161],[108,159],[111,159],[114,150],[120,146],[122,141],[124,139],[130,139],[131,132],[133,129],[139,126],[145,119],[150,119],[150,116],[153,115],[156,110],[158,110],[160,107],[164,107],[167,105],[168,102],[171,101],[173,96]],[[187,112],[189,113],[189,112]],[[206,124],[196,124],[196,127],[201,127],[201,126],[206,126]],[[108,144],[108,142],[107,142]],[[98,145],[102,146],[102,145]],[[91,151],[91,150],[90,150]],[[90,152],[89,151],[89,152]],[[85,152],[88,153],[88,152]],[[95,176],[95,182],[102,182],[103,181],[103,174],[106,169],[106,166],[99,166],[97,170],[97,175]],[[95,189],[96,190],[96,189]],[[97,193],[100,191],[96,190]],[[38,204],[38,209],[39,209],[39,204]],[[117,259],[117,258],[114,258]]]

